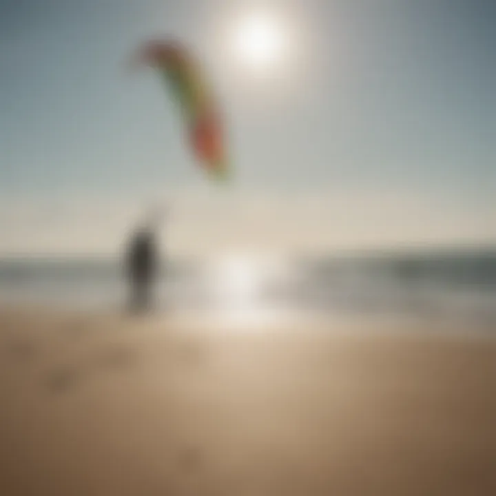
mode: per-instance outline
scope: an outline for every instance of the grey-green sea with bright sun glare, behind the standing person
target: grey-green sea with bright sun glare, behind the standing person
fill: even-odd
[[[0,302],[110,309],[125,306],[126,299],[118,260],[0,260]],[[398,315],[482,322],[496,330],[496,249],[167,260],[157,282],[156,307]]]

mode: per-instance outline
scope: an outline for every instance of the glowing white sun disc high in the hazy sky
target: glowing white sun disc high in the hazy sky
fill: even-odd
[[[247,14],[234,28],[232,48],[240,63],[266,71],[285,56],[285,31],[269,14]]]

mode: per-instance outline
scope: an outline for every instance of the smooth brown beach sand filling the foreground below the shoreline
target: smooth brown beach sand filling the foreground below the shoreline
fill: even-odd
[[[496,340],[352,327],[3,309],[0,495],[496,495]]]

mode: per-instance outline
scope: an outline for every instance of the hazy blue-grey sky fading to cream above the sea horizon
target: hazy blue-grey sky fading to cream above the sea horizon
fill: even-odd
[[[269,12],[260,74],[231,50]],[[180,252],[496,241],[493,0],[0,0],[0,253],[112,251],[152,201]],[[199,172],[172,99],[131,70],[179,37],[234,167]]]

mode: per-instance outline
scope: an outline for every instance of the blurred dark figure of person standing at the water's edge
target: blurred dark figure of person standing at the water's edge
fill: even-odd
[[[149,307],[152,285],[156,275],[156,247],[152,231],[138,231],[131,241],[127,256],[127,271],[132,289],[132,307]]]

